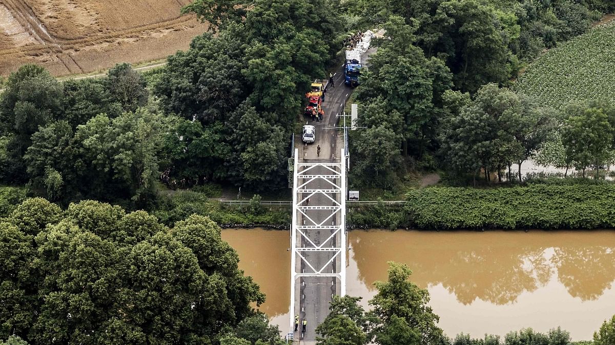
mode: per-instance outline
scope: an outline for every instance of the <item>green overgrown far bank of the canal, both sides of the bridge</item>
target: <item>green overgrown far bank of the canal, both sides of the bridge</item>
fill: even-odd
[[[527,185],[501,188],[431,187],[411,190],[405,204],[347,204],[349,229],[416,230],[613,229],[615,184]],[[9,214],[26,198],[24,188],[0,188],[0,211]],[[150,211],[166,225],[189,215],[210,217],[221,228],[287,230],[289,205],[231,206],[207,193],[161,195]]]

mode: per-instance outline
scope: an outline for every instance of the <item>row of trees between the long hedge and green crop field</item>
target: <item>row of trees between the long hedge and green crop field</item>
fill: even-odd
[[[570,104],[562,112],[533,99],[489,84],[468,94],[447,91],[440,153],[454,172],[481,170],[502,179],[522,179],[526,160],[557,168],[585,171],[606,168],[615,158],[615,108],[606,101]],[[518,174],[511,173],[516,164]]]

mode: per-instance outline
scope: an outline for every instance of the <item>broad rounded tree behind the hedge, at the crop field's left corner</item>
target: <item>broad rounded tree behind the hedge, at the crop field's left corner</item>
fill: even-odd
[[[466,100],[464,100],[466,99]],[[441,152],[457,171],[498,172],[513,162],[521,165],[546,141],[558,114],[540,108],[523,95],[488,84],[471,103],[461,95],[446,95],[446,112],[440,133]],[[466,104],[466,105],[464,105]],[[459,107],[461,106],[461,108]],[[509,176],[510,180],[510,176]]]

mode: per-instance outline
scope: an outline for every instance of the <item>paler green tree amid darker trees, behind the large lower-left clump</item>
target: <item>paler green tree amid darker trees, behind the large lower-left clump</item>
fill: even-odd
[[[161,115],[145,109],[114,119],[97,115],[78,126],[71,141],[75,171],[71,184],[100,200],[120,197],[148,203],[155,196],[157,152],[166,126]]]

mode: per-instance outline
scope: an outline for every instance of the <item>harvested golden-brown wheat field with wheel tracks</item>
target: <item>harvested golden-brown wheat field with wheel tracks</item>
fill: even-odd
[[[207,25],[180,15],[191,0],[0,0],[0,75],[38,63],[55,76],[157,60]]]

